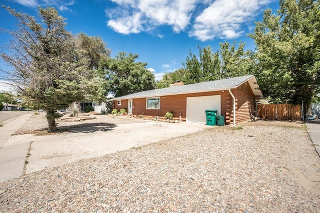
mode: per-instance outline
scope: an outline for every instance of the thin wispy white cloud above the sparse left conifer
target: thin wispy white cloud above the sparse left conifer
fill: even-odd
[[[67,6],[74,4],[74,0],[14,0],[19,4],[28,7],[37,7],[37,6],[55,6],[61,11],[71,11]]]

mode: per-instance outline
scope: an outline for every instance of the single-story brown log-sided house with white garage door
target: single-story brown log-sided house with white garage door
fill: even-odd
[[[113,108],[126,108],[128,114],[173,117],[190,122],[206,122],[206,109],[225,116],[225,124],[248,120],[254,114],[255,100],[263,98],[254,75],[232,77],[168,88],[140,91],[110,99]]]

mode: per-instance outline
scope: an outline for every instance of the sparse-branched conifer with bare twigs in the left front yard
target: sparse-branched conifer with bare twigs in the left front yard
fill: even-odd
[[[4,7],[4,6],[3,6]],[[38,18],[4,7],[18,21],[0,57],[11,70],[3,76],[34,108],[46,110],[48,131],[56,131],[56,109],[73,101],[102,96],[102,79],[91,69],[90,57],[65,30],[64,18],[53,7],[38,8]]]

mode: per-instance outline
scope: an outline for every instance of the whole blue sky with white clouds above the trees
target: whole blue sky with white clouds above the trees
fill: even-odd
[[[261,20],[263,10],[278,8],[277,0],[0,0],[0,4],[36,16],[38,6],[54,6],[66,18],[66,29],[101,36],[111,56],[119,51],[139,55],[160,79],[165,72],[182,67],[189,49],[219,42],[246,42],[246,36]],[[0,8],[0,27],[11,29],[16,20]],[[0,48],[9,35],[0,32]],[[0,61],[0,68],[4,68]],[[0,73],[1,74],[1,73]]]

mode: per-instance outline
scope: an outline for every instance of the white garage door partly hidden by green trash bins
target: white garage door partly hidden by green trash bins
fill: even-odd
[[[186,121],[206,122],[206,109],[216,109],[217,115],[221,113],[220,95],[187,97],[186,98]]]

